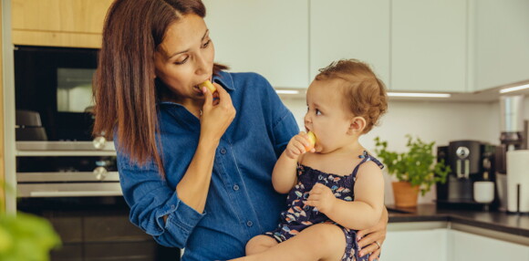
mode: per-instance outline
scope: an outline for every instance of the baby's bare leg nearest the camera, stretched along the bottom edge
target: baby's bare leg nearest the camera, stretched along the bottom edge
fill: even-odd
[[[265,252],[236,260],[339,261],[345,249],[346,237],[340,227],[335,224],[314,224]]]

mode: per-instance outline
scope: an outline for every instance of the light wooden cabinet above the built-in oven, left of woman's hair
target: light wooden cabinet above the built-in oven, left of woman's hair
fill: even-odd
[[[13,43],[100,47],[112,0],[12,0]]]

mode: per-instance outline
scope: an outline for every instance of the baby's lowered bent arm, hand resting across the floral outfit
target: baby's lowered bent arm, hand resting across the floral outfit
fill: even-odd
[[[374,162],[366,162],[358,169],[355,201],[337,199],[327,186],[315,185],[306,204],[314,205],[323,214],[345,227],[360,230],[379,223],[384,209],[384,179]],[[332,195],[332,197],[331,197]]]

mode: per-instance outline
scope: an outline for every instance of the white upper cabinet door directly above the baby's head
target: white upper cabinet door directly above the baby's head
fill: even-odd
[[[389,86],[389,0],[311,0],[310,78],[342,58],[367,62]]]

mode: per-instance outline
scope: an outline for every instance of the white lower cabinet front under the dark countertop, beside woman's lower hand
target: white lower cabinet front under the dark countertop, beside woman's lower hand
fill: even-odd
[[[386,261],[450,260],[447,259],[447,233],[446,228],[389,231],[382,246],[380,259]]]

